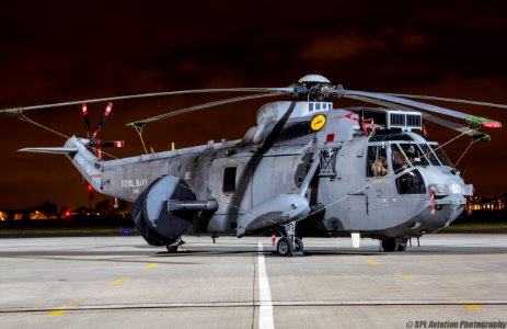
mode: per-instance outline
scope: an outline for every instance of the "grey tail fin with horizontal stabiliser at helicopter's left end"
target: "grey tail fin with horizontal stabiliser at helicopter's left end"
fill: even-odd
[[[102,161],[87,147],[88,139],[70,137],[64,147],[27,147],[19,151],[66,155],[83,178],[95,189],[102,186]]]

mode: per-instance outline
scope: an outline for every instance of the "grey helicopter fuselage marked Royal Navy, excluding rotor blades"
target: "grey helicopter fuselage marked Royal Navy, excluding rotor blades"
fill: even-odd
[[[142,215],[136,213],[134,219],[151,245],[169,243],[160,236],[175,238],[182,228],[242,237],[289,223],[297,223],[300,237],[358,232],[406,241],[454,220],[472,186],[435,141],[413,132],[420,128],[420,116],[415,125],[395,126],[391,112],[274,102],[258,110],[257,125],[239,140],[108,161],[89,150],[88,139],[71,137],[65,147],[77,150],[67,155],[96,191],[145,212],[148,224],[138,223]],[[365,113],[377,117],[377,126]],[[192,195],[170,197],[178,185]],[[172,189],[164,195],[175,202],[161,200],[153,209],[150,189]],[[164,217],[170,219],[162,229],[163,216],[150,215],[161,207],[183,214],[176,216],[181,223]]]

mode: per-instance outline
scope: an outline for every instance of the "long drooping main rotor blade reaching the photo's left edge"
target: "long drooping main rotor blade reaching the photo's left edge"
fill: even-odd
[[[120,101],[120,100],[134,100],[134,99],[145,99],[145,98],[159,98],[159,97],[169,97],[177,94],[196,94],[196,93],[216,93],[216,92],[268,92],[274,94],[292,94],[295,92],[293,88],[222,88],[222,89],[195,89],[195,90],[178,90],[178,91],[168,91],[168,92],[152,92],[152,93],[139,93],[139,94],[129,94],[112,98],[100,98],[100,99],[90,99],[82,101],[72,101],[72,102],[62,102],[54,104],[44,104],[44,105],[33,105],[33,106],[20,106],[11,109],[1,109],[0,114],[10,114],[10,115],[21,115],[23,111],[31,110],[43,110],[51,107],[60,107],[68,105],[78,105],[82,103],[99,103],[105,101]]]

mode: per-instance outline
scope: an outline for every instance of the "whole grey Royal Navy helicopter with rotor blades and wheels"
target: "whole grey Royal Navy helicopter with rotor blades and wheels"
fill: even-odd
[[[97,139],[112,101],[174,94],[242,92],[127,124],[141,137],[155,121],[253,99],[285,95],[262,105],[256,125],[238,140],[103,160],[103,147],[123,141]],[[352,99],[369,106],[336,107]],[[229,88],[159,92],[0,110],[25,111],[82,104],[87,137],[62,147],[20,151],[65,155],[95,191],[132,203],[132,219],[151,246],[177,252],[182,235],[276,235],[278,254],[303,254],[304,237],[350,236],[381,241],[385,252],[404,251],[407,241],[457,219],[473,194],[442,145],[425,136],[426,121],[474,140],[489,140],[481,128],[494,120],[414,101],[429,99],[485,106],[502,104],[436,97],[378,93],[333,86],[308,75],[285,88]],[[90,133],[84,103],[110,101]],[[373,104],[373,106],[371,105]],[[464,120],[465,125],[433,114]],[[461,136],[460,135],[460,136]],[[142,141],[142,137],[141,137]]]

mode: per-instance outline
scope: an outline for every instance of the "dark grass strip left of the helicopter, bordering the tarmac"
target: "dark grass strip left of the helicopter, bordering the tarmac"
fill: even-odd
[[[92,235],[92,234],[118,234],[123,235],[125,229],[134,232],[132,227],[51,227],[51,228],[0,228],[2,236],[31,236],[31,235]]]

